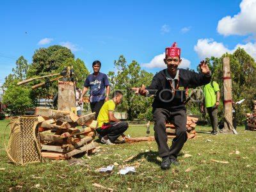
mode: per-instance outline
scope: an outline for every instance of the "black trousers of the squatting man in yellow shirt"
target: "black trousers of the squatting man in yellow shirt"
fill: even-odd
[[[127,122],[109,122],[108,125],[111,125],[107,129],[96,129],[96,131],[100,134],[100,136],[108,136],[111,142],[115,142],[115,140],[123,134],[128,129]]]

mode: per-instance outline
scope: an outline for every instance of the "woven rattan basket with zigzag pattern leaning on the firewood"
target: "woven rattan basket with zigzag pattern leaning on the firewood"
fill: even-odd
[[[10,136],[5,146],[10,161],[17,164],[41,162],[37,116],[15,116],[10,120]]]

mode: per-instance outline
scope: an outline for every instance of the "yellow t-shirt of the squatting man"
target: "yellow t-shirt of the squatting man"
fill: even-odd
[[[100,109],[97,121],[99,123],[99,127],[101,127],[103,125],[103,123],[108,123],[109,119],[108,119],[108,112],[115,112],[115,102],[111,99],[108,100],[107,102],[105,102],[102,106],[102,108]]]

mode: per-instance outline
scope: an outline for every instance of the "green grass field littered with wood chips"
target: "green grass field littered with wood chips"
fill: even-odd
[[[0,121],[0,189],[8,190],[71,190],[94,191],[93,183],[114,191],[171,191],[217,190],[255,191],[256,186],[256,132],[239,127],[238,135],[207,132],[210,127],[196,127],[198,137],[188,140],[180,153],[180,166],[161,170],[155,141],[115,146],[100,145],[83,164],[70,165],[69,161],[16,166],[8,163],[3,147],[4,128],[7,120]],[[131,127],[127,134],[145,136],[145,127]],[[154,131],[150,127],[150,134]],[[172,140],[169,140],[170,144]],[[190,157],[187,157],[191,155]],[[133,157],[132,157],[133,156]],[[125,161],[131,157],[130,161]],[[228,161],[216,163],[211,161]],[[114,164],[112,173],[99,173],[100,167]],[[118,175],[124,166],[135,166],[136,172]]]

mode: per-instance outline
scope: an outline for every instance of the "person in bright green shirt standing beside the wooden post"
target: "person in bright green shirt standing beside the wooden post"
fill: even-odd
[[[207,109],[212,125],[212,134],[218,134],[218,106],[220,105],[220,87],[215,81],[204,85],[204,102],[201,105],[201,112]]]

